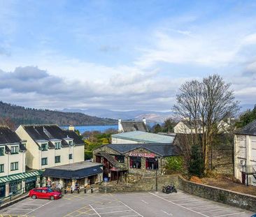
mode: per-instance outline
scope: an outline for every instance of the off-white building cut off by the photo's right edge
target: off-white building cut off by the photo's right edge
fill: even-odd
[[[234,135],[234,175],[243,184],[256,186],[256,120]]]

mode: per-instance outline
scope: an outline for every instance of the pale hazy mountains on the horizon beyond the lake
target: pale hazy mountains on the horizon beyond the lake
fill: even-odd
[[[87,115],[102,117],[102,118],[111,118],[111,119],[132,119],[140,120],[145,117],[147,122],[157,122],[163,123],[166,119],[173,117],[172,112],[155,112],[155,111],[146,111],[146,110],[134,110],[134,111],[113,111],[113,110],[104,110],[104,109],[87,109],[87,110],[73,110],[73,109],[64,109],[62,112],[80,112]]]

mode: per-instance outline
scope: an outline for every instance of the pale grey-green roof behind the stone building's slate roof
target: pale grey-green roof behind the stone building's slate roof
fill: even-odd
[[[123,140],[131,140],[145,143],[172,143],[173,137],[167,135],[159,135],[156,133],[147,133],[142,131],[132,131],[127,133],[118,133],[112,135],[113,138],[120,138]]]

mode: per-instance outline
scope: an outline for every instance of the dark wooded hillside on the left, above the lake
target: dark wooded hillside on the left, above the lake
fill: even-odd
[[[117,124],[117,120],[92,117],[78,112],[37,110],[0,101],[0,117],[8,117],[15,126],[20,124],[58,124],[59,126],[87,126]]]

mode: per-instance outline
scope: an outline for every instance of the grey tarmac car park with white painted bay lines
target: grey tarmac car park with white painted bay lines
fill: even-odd
[[[0,216],[252,216],[253,213],[183,193],[160,192],[64,195],[60,200],[26,198],[0,210]]]

